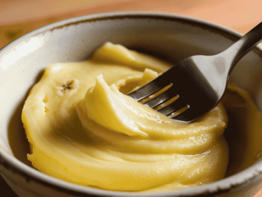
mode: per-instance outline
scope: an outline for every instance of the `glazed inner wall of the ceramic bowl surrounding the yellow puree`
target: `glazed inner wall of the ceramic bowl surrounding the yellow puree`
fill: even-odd
[[[63,24],[60,23],[60,24]],[[156,55],[176,63],[195,54],[211,55],[221,52],[237,40],[237,34],[206,24],[181,18],[121,16],[86,19],[59,28],[44,27],[25,36],[0,52],[0,148],[21,162],[26,159],[29,144],[21,122],[21,110],[30,87],[39,80],[43,69],[51,63],[81,61],[103,43],[122,44],[128,48]],[[234,68],[230,80],[248,90],[258,108],[262,109],[262,52],[250,51]],[[229,118],[230,122],[230,118]],[[231,123],[234,126],[235,122]],[[239,128],[244,127],[240,123]],[[242,124],[242,125],[241,125]],[[262,144],[261,134],[254,143]],[[246,132],[233,133],[242,141],[232,146],[249,148]],[[232,138],[231,140],[234,140]],[[231,142],[228,142],[229,145]],[[261,145],[262,146],[262,145]],[[243,152],[241,158],[256,157],[257,150]],[[237,149],[231,148],[230,154]],[[251,156],[250,156],[251,155]],[[241,164],[230,161],[229,168]],[[232,173],[227,173],[231,175]]]

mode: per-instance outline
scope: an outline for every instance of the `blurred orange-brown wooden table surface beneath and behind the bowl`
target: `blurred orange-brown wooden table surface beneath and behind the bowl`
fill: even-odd
[[[59,20],[116,11],[188,15],[246,33],[262,19],[261,0],[1,0],[0,48],[21,35]],[[1,194],[16,196],[0,177]],[[262,189],[254,196],[262,197]]]

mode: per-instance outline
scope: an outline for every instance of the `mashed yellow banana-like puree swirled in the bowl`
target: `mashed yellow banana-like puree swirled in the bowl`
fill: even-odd
[[[71,183],[118,191],[178,190],[223,178],[222,104],[185,124],[124,95],[170,66],[112,43],[88,61],[49,65],[22,112],[32,165]]]

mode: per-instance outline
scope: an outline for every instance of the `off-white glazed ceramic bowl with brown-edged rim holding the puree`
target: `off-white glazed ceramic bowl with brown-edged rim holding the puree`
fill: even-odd
[[[241,162],[234,164],[239,165],[240,170],[235,174],[228,173],[222,180],[178,191],[128,193],[68,183],[31,166],[26,159],[29,144],[21,122],[25,98],[47,65],[85,60],[106,41],[175,63],[195,54],[219,53],[239,37],[241,34],[231,29],[191,17],[153,12],[116,12],[63,20],[18,38],[0,50],[0,174],[22,197],[253,196],[262,187],[261,157],[248,168],[241,169]],[[239,61],[230,77],[231,81],[250,93],[259,109],[262,109],[261,76],[262,48],[257,46]],[[262,138],[262,128],[258,136]],[[255,138],[254,143],[260,143],[260,137]],[[241,143],[234,142],[239,147],[243,146]],[[234,151],[231,150],[230,154]],[[255,157],[258,153],[251,149],[241,155],[240,160],[247,156]]]

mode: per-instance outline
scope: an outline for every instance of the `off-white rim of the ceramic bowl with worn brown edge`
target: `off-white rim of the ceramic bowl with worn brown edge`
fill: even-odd
[[[162,13],[162,12],[141,12],[141,11],[98,13],[98,14],[90,14],[80,17],[69,18],[69,19],[61,20],[56,23],[51,23],[15,39],[13,42],[7,44],[2,49],[0,49],[0,64],[1,64],[1,59],[4,58],[5,54],[8,54],[10,50],[13,50],[17,44],[23,42],[24,40],[30,37],[34,37],[38,34],[42,34],[47,31],[52,31],[66,26],[77,25],[80,23],[88,23],[88,22],[108,20],[108,19],[110,20],[125,19],[125,18],[173,20],[177,22],[192,24],[200,28],[214,31],[215,33],[219,33],[224,37],[230,38],[231,40],[237,40],[239,37],[242,36],[241,33],[238,33],[222,25],[215,24],[203,19],[198,19],[198,18],[179,15],[179,14]],[[260,45],[256,46],[255,51],[261,56],[262,59],[262,46]],[[237,174],[231,175],[227,178],[223,178],[216,182],[212,182],[202,186],[189,188],[189,189],[182,189],[177,191],[166,191],[166,192],[158,192],[158,193],[133,193],[133,192],[131,193],[131,192],[96,189],[96,188],[69,183],[51,177],[47,174],[44,174],[36,170],[35,168],[32,168],[24,164],[14,156],[9,155],[2,148],[0,148],[0,165],[2,165],[6,169],[11,169],[14,173],[20,174],[21,176],[25,177],[27,181],[33,180],[37,183],[40,183],[52,189],[65,192],[67,194],[76,195],[76,196],[86,196],[86,195],[116,196],[116,197],[120,197],[120,196],[122,197],[123,196],[125,197],[173,196],[174,197],[174,196],[188,196],[188,195],[210,196],[210,194],[226,193],[232,188],[235,188],[237,186],[240,186],[248,182],[252,182],[252,180],[254,180],[258,175],[262,174],[262,160],[261,160]],[[1,171],[1,173],[5,175],[3,171]]]

